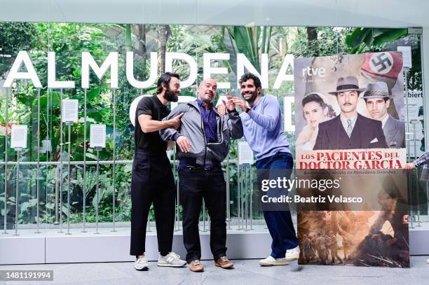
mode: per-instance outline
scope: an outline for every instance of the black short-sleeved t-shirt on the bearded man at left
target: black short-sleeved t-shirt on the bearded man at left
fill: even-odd
[[[162,120],[165,116],[170,113],[167,106],[164,106],[158,97],[143,97],[137,109],[135,111],[135,148],[142,149],[144,151],[167,151],[167,142],[161,139],[159,132],[147,132],[142,131],[142,127],[139,125],[140,115],[152,116],[152,120]]]

